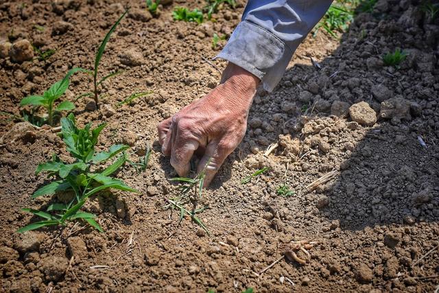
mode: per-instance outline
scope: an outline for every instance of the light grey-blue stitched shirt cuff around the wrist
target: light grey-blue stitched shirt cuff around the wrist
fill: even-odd
[[[281,80],[293,53],[292,48],[268,30],[250,21],[241,21],[215,58],[228,60],[256,75],[265,91],[271,92]]]

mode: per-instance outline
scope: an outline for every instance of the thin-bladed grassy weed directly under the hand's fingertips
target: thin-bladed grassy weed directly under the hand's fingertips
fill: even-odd
[[[208,163],[209,164],[209,163]],[[206,165],[208,165],[206,164]],[[185,218],[185,215],[188,214],[191,216],[191,219],[193,222],[198,224],[201,228],[203,228],[204,231],[209,235],[209,230],[206,228],[206,225],[196,216],[197,213],[202,213],[202,211],[209,209],[208,206],[202,207],[200,209],[197,209],[197,201],[202,197],[202,191],[203,191],[203,184],[204,184],[204,176],[206,174],[205,169],[202,170],[195,178],[186,178],[186,177],[177,177],[177,178],[171,178],[171,181],[176,181],[183,183],[183,185],[180,187],[180,196],[176,198],[167,199],[167,202],[169,203],[168,207],[172,207],[173,209],[179,209],[180,210],[180,219],[178,220],[178,224],[182,221],[183,218]],[[189,192],[193,190],[194,198],[192,200],[193,203],[193,209],[189,211],[184,207],[184,204],[189,203],[190,194]]]

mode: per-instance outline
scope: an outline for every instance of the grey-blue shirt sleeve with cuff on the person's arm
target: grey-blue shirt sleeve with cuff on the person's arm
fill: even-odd
[[[249,0],[223,58],[256,75],[266,91],[281,80],[298,45],[332,0]]]

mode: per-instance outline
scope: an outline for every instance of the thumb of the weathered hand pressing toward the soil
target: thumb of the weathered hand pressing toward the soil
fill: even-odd
[[[211,141],[206,145],[206,152],[198,163],[198,174],[204,170],[203,187],[208,187],[217,174],[227,156],[235,150],[236,145],[230,145],[226,141]]]

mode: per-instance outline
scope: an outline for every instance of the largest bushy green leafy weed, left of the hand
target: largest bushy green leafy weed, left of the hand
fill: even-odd
[[[80,129],[75,125],[75,117],[70,114],[61,119],[61,126],[62,139],[75,161],[66,163],[54,154],[51,161],[38,165],[36,175],[40,172],[47,172],[49,177],[54,177],[56,180],[40,187],[32,198],[63,194],[67,199],[64,202],[50,204],[46,211],[23,209],[44,220],[20,228],[18,230],[20,233],[43,226],[65,225],[66,222],[77,219],[82,219],[98,231],[103,231],[94,220],[96,215],[80,211],[86,200],[99,191],[110,188],[138,192],[111,176],[127,161],[127,154],[123,151],[128,148],[128,145],[112,145],[108,152],[95,152],[97,138],[106,124],[100,124],[91,129],[91,123],[88,123]],[[121,156],[111,165],[104,169],[100,167],[101,164],[121,152],[123,152]]]

